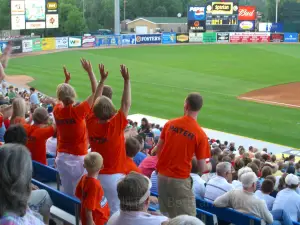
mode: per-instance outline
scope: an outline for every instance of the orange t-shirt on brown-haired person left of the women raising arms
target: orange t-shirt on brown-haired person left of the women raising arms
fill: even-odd
[[[32,160],[47,165],[46,141],[54,135],[53,126],[39,127],[36,125],[23,125],[27,133],[27,148],[31,152]]]

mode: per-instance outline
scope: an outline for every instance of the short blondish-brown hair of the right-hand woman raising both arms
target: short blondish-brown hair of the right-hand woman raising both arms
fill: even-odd
[[[96,99],[93,111],[98,119],[104,121],[111,119],[116,114],[114,104],[105,96]]]

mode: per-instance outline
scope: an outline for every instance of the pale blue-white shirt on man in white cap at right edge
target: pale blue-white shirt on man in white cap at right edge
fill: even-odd
[[[300,195],[295,190],[285,188],[280,191],[273,204],[273,210],[284,209],[293,221],[300,219]]]

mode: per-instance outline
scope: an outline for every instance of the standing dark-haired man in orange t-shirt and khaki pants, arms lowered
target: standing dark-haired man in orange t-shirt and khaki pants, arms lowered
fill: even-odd
[[[191,162],[195,155],[202,173],[206,171],[205,159],[210,158],[207,136],[197,123],[202,104],[200,94],[189,94],[184,103],[184,116],[166,123],[155,149],[160,210],[170,218],[181,214],[196,216]]]

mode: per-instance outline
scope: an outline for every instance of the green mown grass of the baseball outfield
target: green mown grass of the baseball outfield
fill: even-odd
[[[129,67],[132,80],[130,113],[165,119],[181,116],[189,92],[204,96],[199,116],[203,127],[300,148],[300,110],[238,100],[245,92],[300,81],[300,45],[181,45],[75,50],[12,59],[8,74],[29,75],[32,86],[54,96],[64,80],[62,66],[72,73],[80,99],[90,83],[79,59],[109,70],[119,106],[123,82],[119,65]],[[299,96],[300,97],[300,96]]]

